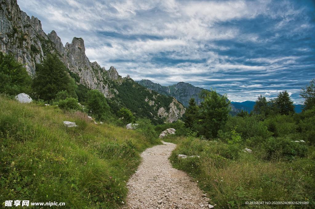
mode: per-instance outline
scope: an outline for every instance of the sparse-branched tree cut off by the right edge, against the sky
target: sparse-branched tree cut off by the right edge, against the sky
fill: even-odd
[[[300,96],[304,99],[304,110],[310,110],[315,107],[315,78],[301,88]]]

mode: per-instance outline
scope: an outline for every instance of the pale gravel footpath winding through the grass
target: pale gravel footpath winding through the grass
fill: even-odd
[[[197,183],[183,171],[172,168],[168,158],[176,145],[163,142],[146,149],[136,173],[128,182],[124,208],[211,208]]]

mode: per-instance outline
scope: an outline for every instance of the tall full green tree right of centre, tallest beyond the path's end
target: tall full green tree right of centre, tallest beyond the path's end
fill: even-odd
[[[201,122],[200,133],[207,138],[216,137],[218,130],[226,123],[231,110],[230,101],[227,97],[220,96],[216,91],[202,92],[203,102],[200,106],[199,122]]]

